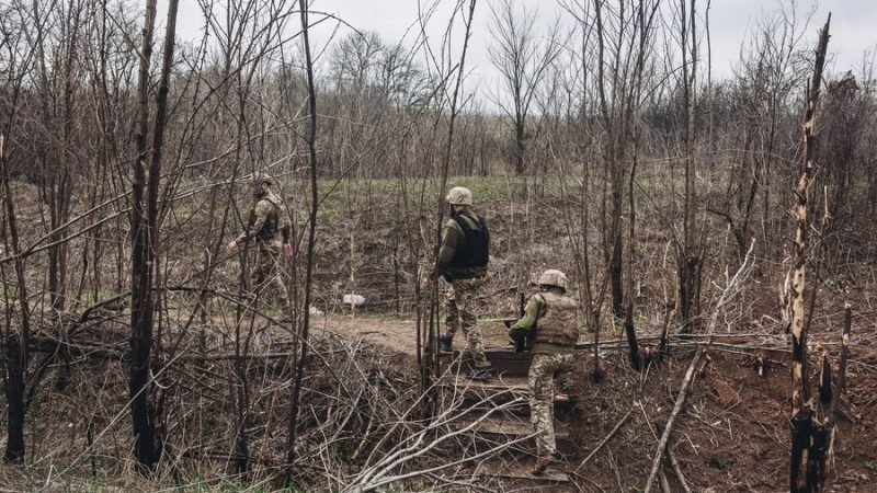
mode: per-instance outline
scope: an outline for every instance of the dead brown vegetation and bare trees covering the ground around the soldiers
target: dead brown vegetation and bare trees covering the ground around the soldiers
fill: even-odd
[[[822,71],[828,25],[815,56],[794,5],[765,18],[713,80],[703,2],[562,1],[572,34],[535,37],[525,11],[523,44],[497,2],[513,98],[496,116],[466,80],[481,2],[419,12],[410,45],[350,32],[322,61],[308,30],[340,20],[232,3],[179,45],[150,39],[175,21],[155,1],[0,5],[3,484],[531,488],[503,470],[531,437],[478,435],[526,427],[523,398],[472,401],[437,355],[438,291],[421,290],[443,194],[466,185],[493,241],[489,342],[505,347],[489,320],[546,267],[581,302],[557,489],[868,491],[877,79]],[[223,249],[258,172],[295,225],[287,307],[252,293],[254,249]],[[815,406],[827,440],[789,463],[789,415]]]

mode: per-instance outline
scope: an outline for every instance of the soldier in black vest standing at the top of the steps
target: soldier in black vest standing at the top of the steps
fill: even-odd
[[[442,276],[451,283],[445,297],[447,333],[438,337],[438,344],[442,351],[452,351],[454,334],[462,325],[475,359],[469,377],[487,380],[493,371],[485,356],[485,342],[475,312],[477,296],[487,275],[490,231],[485,218],[472,211],[472,193],[468,188],[451,188],[446,200],[451,205],[451,218],[442,228],[442,246],[432,276]]]

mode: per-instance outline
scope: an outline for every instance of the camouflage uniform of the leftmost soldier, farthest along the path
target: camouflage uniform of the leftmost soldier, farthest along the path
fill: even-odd
[[[281,277],[280,260],[283,255],[283,245],[289,242],[291,222],[283,210],[283,202],[273,192],[258,196],[255,207],[250,213],[247,231],[238,237],[238,243],[251,239],[259,244],[259,257],[255,263],[253,289],[261,294],[269,286],[277,295],[277,301],[286,305],[288,294]],[[283,241],[277,233],[282,233]]]

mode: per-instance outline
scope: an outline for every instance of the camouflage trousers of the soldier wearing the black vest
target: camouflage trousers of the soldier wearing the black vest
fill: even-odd
[[[463,328],[476,368],[490,367],[490,363],[485,356],[485,341],[481,337],[481,329],[478,328],[478,318],[475,314],[478,291],[483,284],[483,277],[454,279],[445,294],[445,313],[447,313],[445,317],[445,330],[447,331],[447,336],[453,339],[457,330]]]

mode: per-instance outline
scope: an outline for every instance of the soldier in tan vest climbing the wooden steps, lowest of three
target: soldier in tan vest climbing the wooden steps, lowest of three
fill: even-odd
[[[526,337],[533,352],[529,365],[529,421],[536,432],[536,463],[533,474],[542,474],[557,451],[555,443],[555,374],[572,360],[579,340],[577,305],[567,293],[567,276],[557,270],[539,276],[540,293],[527,302],[524,316],[509,329],[509,336],[521,347]]]

